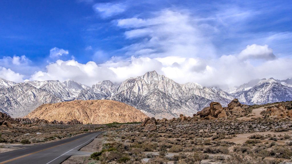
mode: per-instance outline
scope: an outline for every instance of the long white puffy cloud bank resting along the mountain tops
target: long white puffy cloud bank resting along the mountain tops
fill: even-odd
[[[241,85],[255,78],[292,77],[292,59],[267,60],[257,66],[243,61],[237,55],[223,55],[218,59],[205,60],[199,57],[135,57],[121,60],[113,57],[107,62],[81,64],[75,60],[47,65],[46,71],[38,71],[30,80],[66,80],[68,78],[87,85],[102,80],[122,82],[127,78],[141,76],[147,71],[157,71],[178,83],[197,82],[203,86],[227,87]],[[283,74],[282,72],[285,72]]]

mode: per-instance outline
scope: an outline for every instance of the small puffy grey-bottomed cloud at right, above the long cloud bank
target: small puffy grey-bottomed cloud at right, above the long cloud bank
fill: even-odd
[[[275,55],[273,54],[273,49],[269,48],[268,45],[260,46],[257,44],[252,44],[246,46],[246,49],[242,50],[238,57],[242,60],[246,59],[264,59],[273,60]]]

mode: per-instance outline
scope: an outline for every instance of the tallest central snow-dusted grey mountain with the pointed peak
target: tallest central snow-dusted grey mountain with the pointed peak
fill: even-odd
[[[157,118],[177,117],[181,113],[192,115],[211,102],[186,93],[182,85],[152,71],[127,79],[110,99],[132,105],[148,116]]]

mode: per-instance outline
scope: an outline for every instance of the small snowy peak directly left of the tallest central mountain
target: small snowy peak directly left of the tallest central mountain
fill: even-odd
[[[77,95],[77,100],[99,100],[110,97],[118,88],[117,84],[107,80],[100,81],[89,89],[83,89]]]

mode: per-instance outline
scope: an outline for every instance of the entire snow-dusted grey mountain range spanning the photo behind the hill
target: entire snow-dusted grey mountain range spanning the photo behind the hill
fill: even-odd
[[[0,111],[12,117],[23,117],[41,104],[107,99],[124,102],[147,116],[172,118],[192,116],[212,101],[226,106],[234,98],[248,105],[292,100],[292,80],[255,79],[224,91],[197,83],[179,84],[156,71],[121,84],[100,81],[92,87],[69,79],[14,83],[0,78]]]

